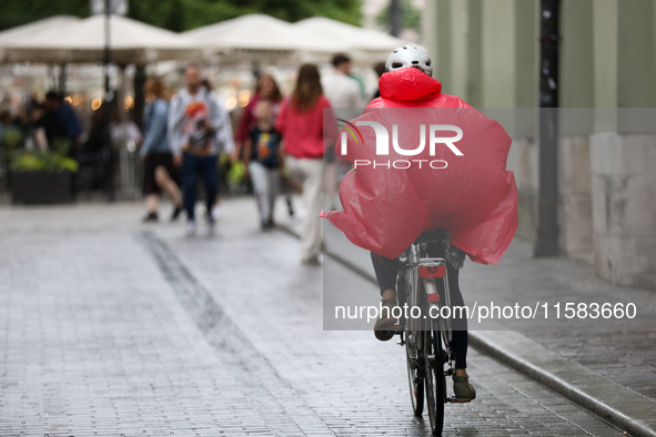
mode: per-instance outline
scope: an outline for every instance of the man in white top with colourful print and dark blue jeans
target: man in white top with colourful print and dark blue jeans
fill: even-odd
[[[196,179],[205,186],[205,220],[214,226],[212,206],[219,192],[219,139],[223,126],[221,109],[211,93],[201,84],[199,68],[184,71],[186,87],[171,101],[169,111],[169,141],[173,161],[182,167],[182,199],[186,212],[186,234],[193,235],[195,222]]]

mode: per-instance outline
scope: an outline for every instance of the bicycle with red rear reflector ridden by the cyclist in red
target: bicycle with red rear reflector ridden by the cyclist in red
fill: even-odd
[[[446,376],[455,373],[452,321],[435,317],[443,306],[451,308],[447,261],[434,256],[443,240],[444,231],[425,231],[400,256],[396,294],[400,307],[405,309],[392,331],[401,336],[398,344],[405,345],[413,411],[422,416],[425,397],[434,436],[442,435],[444,405],[454,400],[446,394]],[[418,314],[415,308],[420,308]]]

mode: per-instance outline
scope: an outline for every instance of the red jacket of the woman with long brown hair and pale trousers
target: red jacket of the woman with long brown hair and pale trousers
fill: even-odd
[[[324,113],[324,109],[329,111]],[[336,133],[330,109],[331,104],[323,95],[320,95],[314,108],[306,111],[299,111],[291,104],[290,98],[284,99],[275,120],[275,130],[284,140],[285,153],[294,157],[323,157],[324,118],[326,126]],[[331,134],[331,138],[336,138],[336,134]]]

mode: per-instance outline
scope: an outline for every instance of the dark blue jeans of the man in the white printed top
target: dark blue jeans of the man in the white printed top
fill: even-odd
[[[182,203],[188,220],[194,220],[195,183],[199,174],[205,185],[208,214],[212,214],[212,206],[216,193],[219,193],[219,157],[216,155],[198,156],[184,152],[182,162]]]

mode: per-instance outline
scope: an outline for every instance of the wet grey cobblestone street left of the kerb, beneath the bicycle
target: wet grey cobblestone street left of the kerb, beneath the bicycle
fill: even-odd
[[[322,331],[323,281],[353,274],[300,266],[253,209],[192,238],[141,205],[0,210],[0,436],[426,435],[403,350]],[[475,352],[470,373],[445,435],[622,435]]]

